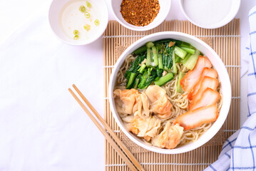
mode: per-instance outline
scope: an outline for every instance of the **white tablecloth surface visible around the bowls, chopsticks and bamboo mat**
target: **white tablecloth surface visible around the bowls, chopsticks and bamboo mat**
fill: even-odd
[[[22,31],[31,28],[33,31],[33,27],[36,28],[26,27],[36,16],[41,15],[41,18],[36,19],[46,21],[50,3],[50,0],[0,1],[0,48],[10,51],[10,56],[1,56],[0,53],[0,67],[6,69],[0,69],[0,88],[4,88],[0,91],[0,170],[104,170],[103,135],[67,91],[72,83],[76,83],[103,115],[102,37],[88,46],[68,46],[58,41],[49,31],[46,40],[52,39],[53,46],[45,43],[41,48],[46,52],[50,48],[56,48],[56,52],[49,53],[47,61],[41,60],[40,55],[24,58],[24,63],[28,63],[27,71],[19,67],[13,68],[13,63],[8,61],[8,58],[15,60],[14,56],[18,59],[19,56],[26,56],[27,51],[33,51],[30,49],[33,46],[19,52],[11,47],[22,43],[15,39]],[[247,14],[255,5],[256,1],[242,0],[236,16],[240,18],[241,26],[241,58],[244,56],[249,34]],[[110,11],[109,19],[114,19]],[[167,20],[171,19],[185,20],[178,0],[172,1]],[[48,23],[45,24],[42,29],[49,29]],[[61,53],[62,51],[69,53]],[[28,56],[29,54],[31,53]],[[31,71],[35,71],[34,65],[39,67],[37,73],[32,74]],[[44,76],[42,72],[48,69],[53,74]],[[24,74],[23,77],[28,76],[28,79],[6,78],[5,72]],[[32,88],[33,92],[29,92],[30,86],[36,86]],[[51,89],[54,93],[44,96]],[[246,74],[241,78],[240,98],[242,125],[247,115]],[[9,103],[7,108],[8,100],[15,103]],[[37,110],[29,110],[31,105],[36,105]]]

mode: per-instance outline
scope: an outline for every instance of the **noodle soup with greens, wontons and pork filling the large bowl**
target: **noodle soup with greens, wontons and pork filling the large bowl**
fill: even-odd
[[[148,42],[127,56],[113,97],[126,130],[167,149],[198,140],[222,106],[210,60],[174,39]]]

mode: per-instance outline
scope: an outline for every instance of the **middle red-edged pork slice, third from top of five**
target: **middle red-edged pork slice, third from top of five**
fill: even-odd
[[[206,88],[212,88],[213,90],[216,90],[218,85],[219,85],[219,81],[216,78],[211,78],[211,77],[208,77],[208,76],[204,76],[203,80],[200,84],[200,88],[198,89],[198,93],[195,94],[195,98],[193,98],[193,100],[191,101],[190,106],[192,106],[200,98],[202,98],[203,91]]]

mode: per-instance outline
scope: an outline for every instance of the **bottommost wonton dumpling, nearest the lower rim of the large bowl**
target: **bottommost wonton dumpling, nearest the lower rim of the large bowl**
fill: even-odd
[[[156,147],[173,149],[180,142],[182,135],[183,127],[178,124],[171,125],[170,121],[168,121],[163,131],[155,138],[152,138],[151,142]]]

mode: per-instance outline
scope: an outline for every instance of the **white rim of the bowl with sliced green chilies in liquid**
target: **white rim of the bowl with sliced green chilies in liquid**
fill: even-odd
[[[105,9],[106,9],[106,15],[104,15],[104,16],[106,16],[106,20],[107,20],[107,22],[106,22],[106,24],[105,25],[103,25],[102,26],[102,31],[100,31],[100,32],[98,32],[98,33],[96,33],[95,35],[96,36],[93,36],[93,38],[91,38],[90,39],[90,41],[86,41],[86,42],[83,42],[83,41],[81,41],[80,43],[71,43],[70,41],[66,41],[66,40],[64,40],[64,39],[62,39],[60,36],[58,36],[57,35],[57,33],[53,30],[53,26],[52,26],[52,24],[51,24],[51,8],[52,8],[52,6],[53,6],[53,2],[54,1],[56,1],[56,0],[52,0],[51,1],[51,4],[50,4],[50,6],[49,6],[49,8],[48,8],[48,16],[47,16],[47,19],[48,19],[48,24],[50,25],[50,27],[51,27],[51,31],[53,32],[53,34],[58,38],[58,40],[60,40],[60,41],[62,41],[63,43],[66,43],[66,44],[68,44],[68,45],[73,45],[73,46],[83,46],[83,45],[88,45],[88,44],[90,44],[90,43],[93,43],[94,41],[96,41],[98,38],[100,38],[102,35],[103,35],[103,33],[106,31],[106,28],[107,28],[107,26],[108,26],[108,19],[109,19],[109,16],[108,16],[108,6],[107,6],[107,4],[106,4],[106,1],[105,0],[100,0],[100,1],[103,1],[103,6],[105,6]],[[72,1],[72,0],[68,0],[68,1]],[[66,1],[66,3],[68,3],[68,1]],[[65,3],[65,4],[66,4]],[[64,4],[64,5],[65,5]],[[101,5],[102,6],[102,5]],[[61,8],[63,8],[63,6],[61,6]],[[103,7],[104,8],[104,7]]]

